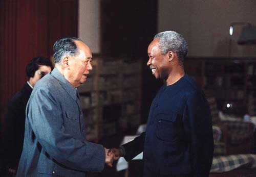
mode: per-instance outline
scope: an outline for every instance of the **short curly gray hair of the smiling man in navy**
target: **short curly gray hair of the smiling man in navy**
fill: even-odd
[[[160,38],[159,48],[162,55],[167,54],[171,50],[178,55],[179,61],[183,63],[188,49],[187,42],[181,34],[175,31],[165,31],[156,34],[154,39],[156,38]]]

